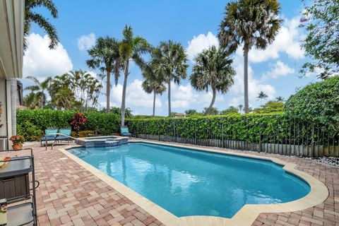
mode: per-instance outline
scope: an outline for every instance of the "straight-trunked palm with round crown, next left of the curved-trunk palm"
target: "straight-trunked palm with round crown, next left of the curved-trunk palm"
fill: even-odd
[[[185,49],[179,42],[160,42],[159,47],[152,53],[151,64],[155,73],[164,76],[168,91],[168,116],[171,116],[171,81],[179,84],[181,79],[185,79],[189,65]]]

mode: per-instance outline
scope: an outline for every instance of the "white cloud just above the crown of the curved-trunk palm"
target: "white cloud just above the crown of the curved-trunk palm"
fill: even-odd
[[[218,47],[219,41],[212,32],[208,32],[207,35],[200,34],[198,37],[194,36],[193,39],[189,41],[189,47],[186,49],[186,54],[190,61],[194,61],[196,54],[213,45]]]

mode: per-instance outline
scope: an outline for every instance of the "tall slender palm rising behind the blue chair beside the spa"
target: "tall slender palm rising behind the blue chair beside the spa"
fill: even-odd
[[[124,85],[122,88],[121,98],[121,126],[125,125],[125,108],[126,108],[126,87],[127,79],[129,77],[129,61],[133,60],[137,66],[145,66],[142,55],[150,52],[151,46],[148,42],[140,36],[133,36],[133,29],[131,26],[125,25],[122,31],[122,41],[119,45],[119,54],[122,63],[124,64]]]

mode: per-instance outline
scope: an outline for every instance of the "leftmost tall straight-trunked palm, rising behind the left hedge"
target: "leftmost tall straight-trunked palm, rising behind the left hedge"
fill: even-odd
[[[100,69],[106,73],[106,112],[110,110],[111,73],[114,73],[115,85],[118,83],[121,61],[119,56],[119,42],[112,37],[99,37],[95,46],[88,50],[91,59],[86,61],[90,69]]]

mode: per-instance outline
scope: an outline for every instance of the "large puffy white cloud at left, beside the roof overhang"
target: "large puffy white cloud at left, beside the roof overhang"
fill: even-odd
[[[32,33],[28,35],[28,49],[23,57],[23,76],[59,76],[73,69],[73,64],[61,43],[49,49],[49,37]]]

